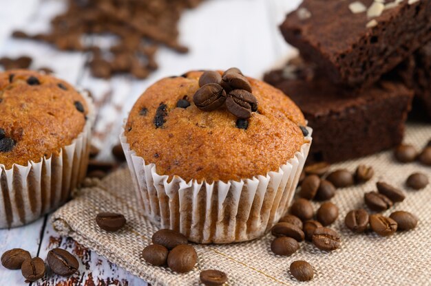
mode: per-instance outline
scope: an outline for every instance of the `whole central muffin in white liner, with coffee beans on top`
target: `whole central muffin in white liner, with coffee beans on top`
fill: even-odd
[[[149,218],[191,241],[229,243],[286,212],[311,129],[282,91],[232,68],[158,81],[121,140]]]

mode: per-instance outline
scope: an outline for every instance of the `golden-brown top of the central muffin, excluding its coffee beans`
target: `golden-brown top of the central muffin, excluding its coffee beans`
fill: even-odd
[[[159,80],[129,114],[127,143],[146,164],[154,163],[158,174],[186,181],[238,181],[277,171],[300,150],[304,115],[282,91],[247,78],[258,109],[247,120],[248,128],[239,129],[226,107],[202,111],[193,103],[201,74]],[[177,107],[179,100],[187,100],[189,107]]]

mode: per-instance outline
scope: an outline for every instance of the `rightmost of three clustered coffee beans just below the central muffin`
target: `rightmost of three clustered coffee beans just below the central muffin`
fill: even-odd
[[[196,265],[198,254],[191,245],[178,245],[167,256],[167,265],[178,273],[189,272]]]

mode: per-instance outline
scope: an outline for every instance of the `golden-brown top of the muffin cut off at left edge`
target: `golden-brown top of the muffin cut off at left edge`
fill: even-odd
[[[63,80],[28,70],[0,73],[0,164],[40,162],[83,131],[87,102]]]

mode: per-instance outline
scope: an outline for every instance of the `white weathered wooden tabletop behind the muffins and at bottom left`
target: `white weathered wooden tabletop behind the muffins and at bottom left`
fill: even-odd
[[[186,12],[180,22],[180,41],[190,47],[187,55],[162,48],[157,54],[160,68],[147,80],[116,76],[111,80],[92,78],[85,68],[85,54],[59,52],[45,43],[12,39],[13,30],[44,32],[50,18],[65,8],[61,0],[0,0],[0,57],[24,54],[34,58],[32,68],[50,67],[60,78],[90,89],[100,113],[94,144],[101,148],[98,159],[111,159],[111,146],[118,142],[123,118],[136,98],[154,81],[183,74],[190,69],[240,67],[244,74],[260,78],[293,52],[277,26],[299,0],[207,0]],[[108,44],[107,39],[93,39]],[[109,132],[107,132],[109,131]],[[147,285],[102,256],[59,236],[49,223],[50,215],[21,228],[0,230],[0,254],[10,248],[23,248],[32,256],[45,259],[56,247],[72,251],[81,261],[70,278],[50,275],[31,285]],[[0,266],[0,285],[24,285],[19,270]]]

